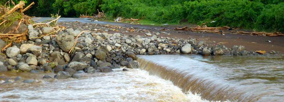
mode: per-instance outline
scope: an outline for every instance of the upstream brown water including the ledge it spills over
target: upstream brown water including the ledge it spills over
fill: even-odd
[[[141,69],[209,101],[283,102],[283,56],[139,56]]]

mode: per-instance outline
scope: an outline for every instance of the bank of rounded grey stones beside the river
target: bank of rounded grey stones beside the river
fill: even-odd
[[[113,68],[139,68],[136,55],[201,54],[201,55],[278,55],[277,52],[260,54],[246,51],[243,45],[228,48],[222,44],[211,46],[210,42],[194,38],[179,39],[160,37],[165,32],[146,29],[129,29],[121,26],[92,23],[62,22],[67,29],[58,34],[40,37],[53,32],[52,28],[36,28],[28,25],[28,41],[12,43],[0,54],[0,72],[54,72],[54,78],[80,78],[82,73],[112,72]],[[73,48],[77,37],[77,43]],[[112,33],[112,32],[114,33]],[[145,35],[128,35],[139,32]],[[5,42],[0,40],[0,48]],[[121,69],[127,71],[127,68]],[[44,76],[43,78],[53,78]],[[30,81],[28,81],[30,82]],[[9,82],[4,82],[9,83]]]

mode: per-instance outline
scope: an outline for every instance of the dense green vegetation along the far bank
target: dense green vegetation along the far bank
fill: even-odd
[[[110,18],[132,17],[156,23],[179,23],[186,19],[197,24],[207,21],[210,27],[284,32],[283,0],[25,0],[32,1],[36,4],[28,11],[30,16],[59,13],[63,17],[79,17],[97,14],[99,9]]]

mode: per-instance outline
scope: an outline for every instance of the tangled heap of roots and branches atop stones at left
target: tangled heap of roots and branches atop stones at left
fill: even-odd
[[[50,34],[54,34],[55,32],[64,29],[63,27],[57,26],[57,21],[60,17],[58,15],[56,19],[48,23],[34,23],[31,17],[23,13],[24,11],[28,10],[33,4],[34,2],[24,8],[25,3],[23,1],[20,1],[19,4],[14,5],[13,8],[10,8],[10,6],[0,6],[0,38],[6,42],[6,46],[1,49],[2,51],[5,48],[11,46],[12,42],[17,43],[21,41],[27,41],[28,29],[26,26],[29,24],[32,24],[34,28],[52,27],[54,29],[54,32]],[[48,36],[50,34],[42,35],[41,37]]]

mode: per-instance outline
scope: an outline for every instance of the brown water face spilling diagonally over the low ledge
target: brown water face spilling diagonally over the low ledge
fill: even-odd
[[[236,86],[231,86],[230,84],[213,79],[202,79],[180,68],[170,68],[142,58],[137,59],[137,61],[141,69],[148,71],[150,74],[172,81],[174,85],[181,88],[183,92],[190,91],[200,94],[203,99],[209,101],[259,101],[259,97],[254,97],[253,94],[248,94],[242,90],[236,90]]]

